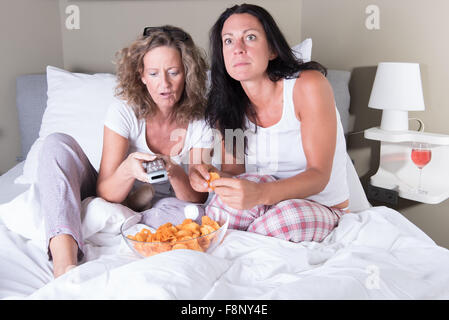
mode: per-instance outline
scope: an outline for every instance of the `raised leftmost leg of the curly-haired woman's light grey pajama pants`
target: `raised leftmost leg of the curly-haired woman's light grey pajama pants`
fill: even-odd
[[[69,234],[83,257],[81,201],[96,195],[97,171],[71,136],[53,133],[43,142],[38,163],[38,189],[45,220],[47,248],[51,238]],[[49,259],[52,259],[48,249]]]

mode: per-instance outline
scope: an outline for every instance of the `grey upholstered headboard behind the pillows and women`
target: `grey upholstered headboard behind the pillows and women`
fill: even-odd
[[[332,85],[335,101],[345,133],[349,122],[349,71],[328,70],[327,78]],[[47,106],[46,74],[19,76],[16,80],[16,102],[19,114],[22,158],[25,159],[33,142],[39,136],[42,115]]]

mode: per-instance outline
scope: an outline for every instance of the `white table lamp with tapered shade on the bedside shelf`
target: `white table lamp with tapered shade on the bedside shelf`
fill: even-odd
[[[381,109],[381,129],[408,130],[408,111],[425,109],[418,63],[381,62],[368,107]]]

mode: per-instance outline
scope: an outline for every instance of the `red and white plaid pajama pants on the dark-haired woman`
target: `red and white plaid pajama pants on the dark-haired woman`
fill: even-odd
[[[276,180],[269,175],[248,173],[236,178],[256,183]],[[340,217],[345,213],[303,199],[289,199],[272,206],[257,205],[249,210],[238,210],[227,206],[220,197],[214,195],[209,206],[229,212],[230,229],[254,232],[292,242],[321,242],[338,225]],[[207,212],[206,208],[206,214]]]

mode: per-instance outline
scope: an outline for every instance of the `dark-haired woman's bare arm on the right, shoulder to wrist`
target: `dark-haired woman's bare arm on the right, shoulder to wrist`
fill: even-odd
[[[330,179],[337,136],[332,87],[318,71],[304,71],[293,92],[307,168],[293,177],[267,183],[265,204],[307,198],[321,192]]]

